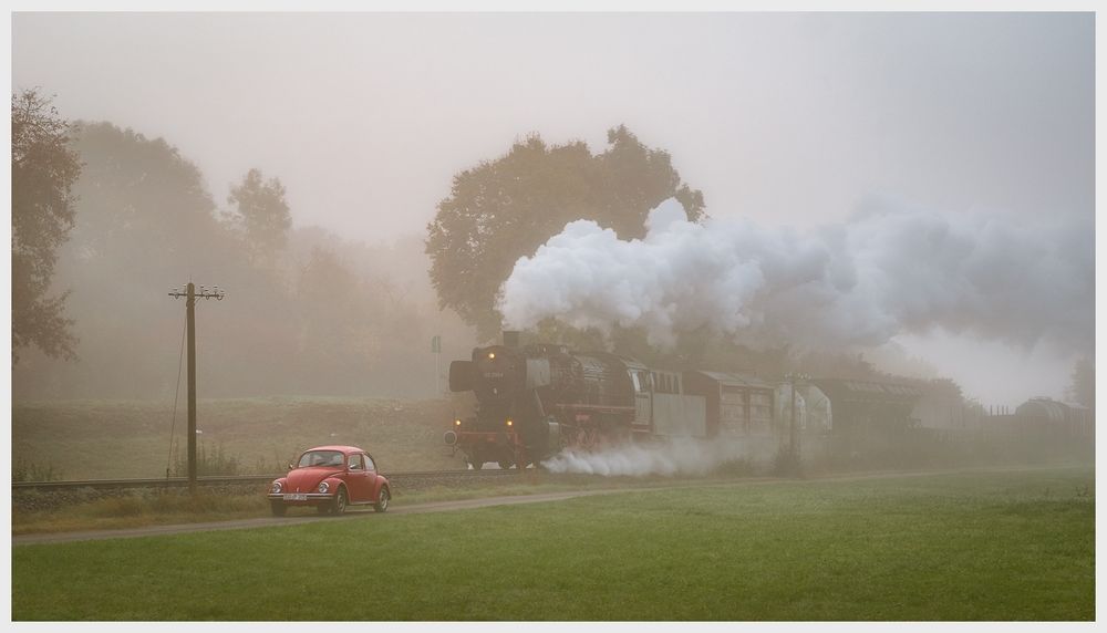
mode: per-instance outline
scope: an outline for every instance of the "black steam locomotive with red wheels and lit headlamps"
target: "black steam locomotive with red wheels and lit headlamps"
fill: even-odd
[[[454,421],[447,445],[479,469],[487,461],[525,468],[566,448],[599,448],[649,434],[652,372],[606,352],[579,354],[565,345],[503,345],[473,350],[449,365],[449,390],[472,391],[476,415]]]

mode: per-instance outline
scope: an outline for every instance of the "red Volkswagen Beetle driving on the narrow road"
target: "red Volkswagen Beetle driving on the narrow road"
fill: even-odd
[[[372,504],[383,512],[391,498],[389,480],[376,471],[373,457],[356,446],[309,448],[269,489],[275,517],[283,517],[289,506],[314,506],[319,513],[341,515],[348,506]]]

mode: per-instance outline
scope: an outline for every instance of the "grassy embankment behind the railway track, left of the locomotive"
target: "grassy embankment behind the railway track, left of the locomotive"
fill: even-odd
[[[323,444],[365,448],[384,470],[464,466],[442,443],[464,401],[272,397],[200,401],[198,442],[221,450],[238,474],[278,471],[300,450]],[[173,403],[72,401],[12,405],[12,463],[62,479],[164,477],[184,459],[186,413],[178,404],[169,452]],[[174,459],[176,457],[176,459]],[[226,465],[226,464],[225,464]]]

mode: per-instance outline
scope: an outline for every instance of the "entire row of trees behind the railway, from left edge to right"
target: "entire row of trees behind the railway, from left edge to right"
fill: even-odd
[[[592,219],[641,237],[649,210],[670,197],[690,219],[706,217],[702,193],[670,155],[620,126],[601,153],[529,136],[458,173],[425,238],[352,242],[293,227],[273,175],[250,169],[216,198],[166,139],[111,123],[66,125],[56,113],[43,116],[46,104],[33,92],[12,97],[17,399],[174,397],[185,310],[168,292],[188,281],[226,291],[224,301],[197,307],[203,397],[430,397],[445,388],[449,361],[498,340],[498,289],[519,257],[567,221]],[[30,113],[27,129],[50,133],[45,142],[20,133],[20,108]],[[296,211],[311,217],[312,209]],[[524,340],[608,349],[673,370],[902,380],[857,353],[754,350],[706,329],[682,332],[665,350],[639,328],[602,335],[555,320]],[[933,375],[929,367],[909,373]]]

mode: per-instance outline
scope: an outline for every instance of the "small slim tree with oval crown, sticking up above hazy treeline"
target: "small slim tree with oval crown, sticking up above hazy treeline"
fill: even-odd
[[[242,230],[255,261],[271,260],[288,243],[292,216],[279,179],[265,180],[260,170],[250,169],[230,189],[227,203],[235,205],[231,221]]]

